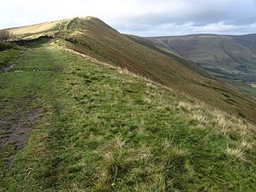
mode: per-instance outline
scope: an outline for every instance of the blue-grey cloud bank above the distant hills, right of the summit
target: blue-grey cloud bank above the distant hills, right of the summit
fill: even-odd
[[[167,1],[150,1],[154,3]],[[256,2],[253,0],[183,0],[177,10],[170,3],[160,13],[147,12],[122,18],[118,30],[142,36],[217,33],[255,33]],[[170,11],[169,11],[170,10]],[[164,27],[165,26],[165,27]]]

